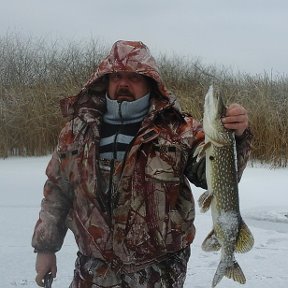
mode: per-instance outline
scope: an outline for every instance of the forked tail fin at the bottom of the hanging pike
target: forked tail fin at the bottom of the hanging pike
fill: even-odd
[[[227,262],[224,260],[220,261],[212,281],[212,287],[215,287],[224,276],[240,284],[246,283],[245,275],[237,261],[234,261],[232,266],[227,266]]]

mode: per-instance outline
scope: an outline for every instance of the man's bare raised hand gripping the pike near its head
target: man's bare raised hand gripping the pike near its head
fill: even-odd
[[[248,128],[248,112],[240,104],[233,103],[227,108],[222,123],[225,128],[234,130],[239,137]]]

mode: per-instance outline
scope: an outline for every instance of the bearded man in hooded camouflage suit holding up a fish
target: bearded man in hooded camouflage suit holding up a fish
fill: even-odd
[[[189,181],[206,187],[205,161],[193,156],[201,125],[136,41],[117,41],[61,108],[71,120],[47,167],[32,239],[37,284],[56,276],[69,228],[79,247],[71,288],[183,287],[195,234]],[[223,124],[236,134],[240,179],[251,146],[246,110],[232,104]]]

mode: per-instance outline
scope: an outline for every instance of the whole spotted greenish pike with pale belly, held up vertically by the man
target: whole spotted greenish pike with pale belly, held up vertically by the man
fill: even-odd
[[[211,208],[213,220],[213,230],[204,240],[202,249],[221,249],[212,287],[224,276],[244,284],[245,275],[234,252],[248,252],[254,245],[253,236],[240,214],[235,135],[222,124],[225,112],[223,99],[210,86],[204,104],[205,144],[198,151],[199,157],[206,156],[208,190],[200,196],[198,203],[202,212]]]

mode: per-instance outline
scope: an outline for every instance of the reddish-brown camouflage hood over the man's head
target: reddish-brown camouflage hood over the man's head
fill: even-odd
[[[156,61],[148,47],[140,41],[119,40],[114,43],[108,56],[102,60],[81,91],[76,96],[61,101],[63,115],[75,115],[79,107],[83,107],[83,103],[91,106],[91,102],[93,102],[92,107],[96,105],[104,110],[104,95],[107,90],[105,75],[114,72],[136,72],[149,77],[154,80],[154,94],[165,99],[167,103],[175,102],[174,96],[169,94],[161,79]],[[91,96],[94,99],[91,99]]]

